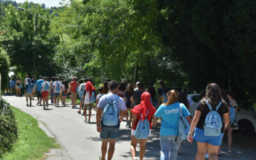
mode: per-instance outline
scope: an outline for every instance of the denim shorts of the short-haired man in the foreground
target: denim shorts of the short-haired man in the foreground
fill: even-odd
[[[119,127],[101,127],[100,138],[115,140],[119,136]]]

